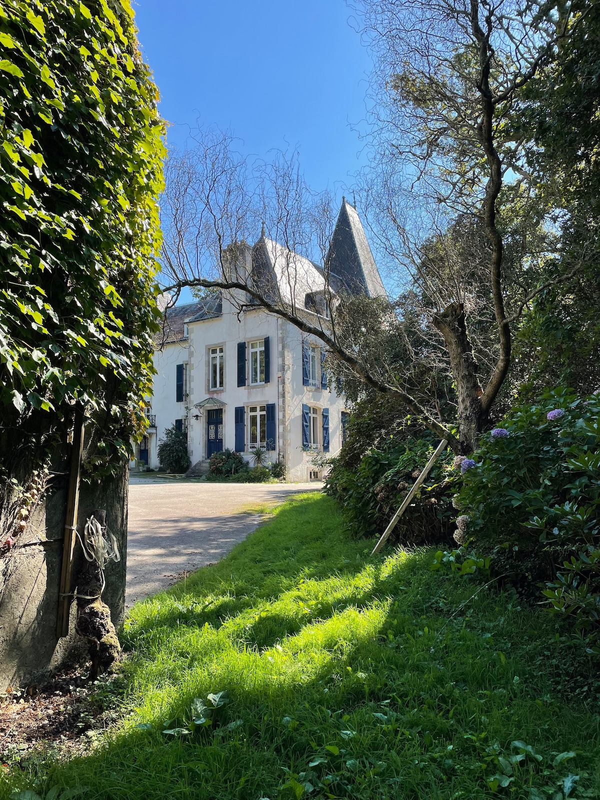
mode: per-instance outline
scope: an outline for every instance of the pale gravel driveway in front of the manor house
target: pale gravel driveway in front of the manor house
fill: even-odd
[[[320,483],[205,483],[130,478],[126,607],[213,564],[260,524],[244,508],[283,502]]]

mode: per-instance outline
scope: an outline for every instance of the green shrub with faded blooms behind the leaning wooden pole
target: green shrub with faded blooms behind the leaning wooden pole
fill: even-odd
[[[381,449],[372,447],[358,467],[333,459],[325,481],[326,494],[338,500],[354,534],[381,534],[430,458],[437,442],[427,438],[391,437]],[[451,542],[454,531],[451,505],[456,476],[448,475],[452,454],[438,458],[426,482],[394,530],[397,541],[408,544]]]

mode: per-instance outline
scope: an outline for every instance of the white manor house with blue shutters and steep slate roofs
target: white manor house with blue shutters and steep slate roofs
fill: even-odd
[[[315,326],[325,329],[326,318],[318,315],[325,289],[319,266],[264,234],[243,254],[251,280],[275,282],[284,298],[290,295],[284,266],[290,256],[294,302],[307,321],[314,315]],[[346,200],[326,268],[337,294],[386,294],[358,213]],[[219,450],[236,450],[251,461],[250,450],[262,446],[270,462],[285,464],[288,481],[307,481],[321,477],[316,453],[337,454],[346,404],[343,394],[327,388],[322,342],[247,300],[240,306],[239,298],[223,291],[166,312],[154,352],[150,428],[132,466],[158,469],[158,444],[173,425],[187,432],[193,474],[206,472],[207,459]]]

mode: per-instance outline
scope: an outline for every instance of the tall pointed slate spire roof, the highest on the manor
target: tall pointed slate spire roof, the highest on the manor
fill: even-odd
[[[335,223],[326,267],[334,291],[343,287],[350,294],[366,294],[370,298],[387,296],[358,212],[346,198]]]

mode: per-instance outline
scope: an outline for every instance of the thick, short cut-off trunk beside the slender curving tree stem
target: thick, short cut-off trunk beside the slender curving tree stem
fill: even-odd
[[[467,455],[477,447],[479,436],[487,422],[482,406],[482,387],[477,362],[466,333],[465,308],[453,302],[434,317],[434,326],[444,337],[450,356],[450,366],[458,394],[458,454]],[[452,443],[450,443],[452,446]],[[456,450],[456,447],[453,446]]]

